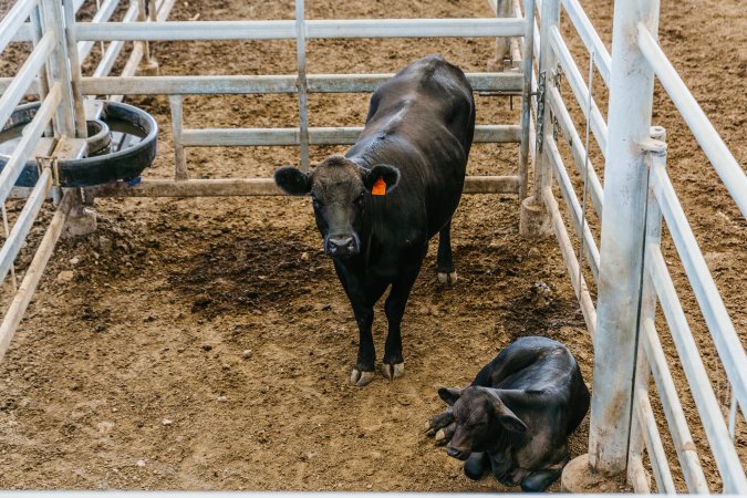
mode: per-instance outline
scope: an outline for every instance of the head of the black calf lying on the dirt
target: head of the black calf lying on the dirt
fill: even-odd
[[[496,450],[505,436],[527,432],[527,426],[500,400],[499,390],[469,386],[440,388],[438,395],[454,407],[456,430],[446,446],[449,456],[466,460],[473,452]]]

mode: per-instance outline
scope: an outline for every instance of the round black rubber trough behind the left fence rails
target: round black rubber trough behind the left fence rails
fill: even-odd
[[[91,187],[137,178],[156,158],[158,125],[145,111],[118,102],[102,101],[101,120],[89,121],[86,157],[58,164],[60,185]],[[0,131],[0,170],[6,167],[23,127],[39,111],[39,103],[15,108]],[[33,187],[39,179],[35,159],[27,163],[17,187]]]

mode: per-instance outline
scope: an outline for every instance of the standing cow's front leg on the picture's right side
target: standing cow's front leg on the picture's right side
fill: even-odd
[[[413,290],[426,251],[427,246],[423,248],[422,252],[415,255],[415,258],[411,260],[414,262],[403,269],[401,278],[392,284],[392,291],[386,298],[384,309],[388,321],[388,333],[384,343],[382,373],[390,381],[401,377],[405,373],[405,360],[402,355],[402,317],[405,314],[409,291]]]

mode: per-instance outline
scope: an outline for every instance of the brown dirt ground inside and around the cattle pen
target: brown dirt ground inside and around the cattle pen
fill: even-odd
[[[0,11],[10,3],[0,1],[6,6]],[[582,3],[609,43],[611,2]],[[739,0],[664,1],[661,38],[745,164],[741,10]],[[309,2],[308,11],[315,19],[490,14],[483,0],[319,0]],[[293,6],[179,0],[170,19],[197,14],[200,20],[292,19]],[[580,46],[573,45],[579,54]],[[162,74],[294,71],[292,42],[155,43],[153,50]],[[492,43],[477,39],[312,41],[309,72],[394,72],[429,53],[465,71],[485,70],[494,55]],[[12,74],[18,61],[4,58],[0,71]],[[311,123],[360,125],[367,98],[311,95]],[[159,156],[147,176],[172,176],[167,97],[128,102],[160,125]],[[186,103],[186,125],[194,127],[294,126],[298,120],[294,96],[189,97]],[[479,97],[478,123],[516,122],[513,104],[511,110],[506,98]],[[655,105],[654,123],[668,129],[673,181],[747,342],[747,224],[668,101],[657,95]],[[517,149],[478,145],[469,170],[512,172]],[[314,147],[312,160],[342,151]],[[278,166],[298,164],[299,156],[293,147],[203,148],[189,149],[187,159],[193,178],[218,178],[269,176]],[[432,247],[403,322],[405,376],[390,383],[380,375],[357,388],[347,384],[357,332],[332,263],[321,252],[309,204],[284,197],[97,199],[98,230],[61,242],[0,363],[0,488],[508,490],[489,478],[464,477],[460,464],[435,447],[423,426],[443,409],[439,386],[468,383],[522,335],[568,344],[591,385],[591,339],[554,239],[519,237],[516,197],[464,197],[453,224],[459,282],[437,283]],[[13,215],[20,205],[10,203],[9,210]],[[40,224],[34,237],[42,232]],[[21,269],[30,249],[21,256]],[[695,313],[673,249],[665,249],[685,305]],[[537,283],[550,288],[548,301],[533,299]],[[374,323],[380,349],[382,311]],[[693,329],[718,395],[727,400],[718,357],[698,317]],[[675,357],[666,340],[665,345]],[[682,373],[675,369],[675,375],[682,385]],[[686,409],[694,413],[692,402]],[[747,461],[743,428],[737,445]],[[704,447],[702,434],[694,433]],[[587,438],[584,421],[572,437],[573,456],[585,453]],[[703,461],[712,490],[718,490],[714,461],[707,454]]]

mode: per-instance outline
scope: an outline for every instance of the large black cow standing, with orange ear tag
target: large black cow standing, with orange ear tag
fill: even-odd
[[[311,194],[324,251],[359,326],[355,385],[374,377],[373,307],[388,286],[382,373],[390,380],[404,373],[400,324],[428,240],[437,232],[439,280],[456,281],[450,221],[474,132],[469,82],[457,66],[432,55],[374,92],[365,127],[344,157],[330,156],[310,173],[282,167],[274,174],[286,194]]]

